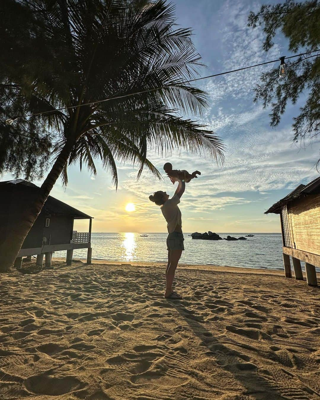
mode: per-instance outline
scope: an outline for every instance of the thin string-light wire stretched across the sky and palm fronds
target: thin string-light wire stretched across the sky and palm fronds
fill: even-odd
[[[285,57],[285,59],[288,60],[289,58],[300,57],[300,56],[304,56],[305,54],[311,54],[311,53],[319,52],[319,51],[320,51],[320,49],[318,49],[318,50],[312,50],[312,51],[308,51],[308,52],[305,52],[305,53],[296,54],[296,55],[294,55],[294,56]],[[318,56],[318,54],[314,54],[314,55],[312,55],[312,56],[306,57],[306,58],[304,58],[304,60],[306,60],[306,59],[308,59],[308,58],[316,57],[316,56]],[[258,66],[261,66],[261,65],[271,64],[271,63],[273,63],[273,62],[279,62],[279,60],[280,60],[280,58],[277,58],[276,60],[261,62],[260,64],[254,64],[254,65],[250,65],[250,66],[248,66],[248,67],[237,68],[236,70],[230,70],[230,71],[226,71],[226,72],[220,72],[219,74],[213,74],[213,75],[203,76],[202,78],[196,78],[196,79],[186,80],[186,81],[183,81],[183,82],[176,82],[175,85],[182,85],[182,84],[185,84],[185,83],[196,82],[196,81],[202,80],[202,79],[213,78],[213,77],[215,77],[215,76],[221,76],[221,75],[231,74],[232,72],[238,72],[238,71],[242,71],[242,70],[247,70],[247,69],[249,69],[249,68],[258,67]],[[168,87],[170,87],[170,85],[169,85],[169,86],[166,86],[166,87],[168,88]],[[56,111],[69,110],[70,108],[78,108],[78,107],[82,107],[82,106],[88,106],[88,105],[93,105],[93,104],[99,104],[99,103],[103,103],[103,102],[110,101],[110,100],[117,100],[117,99],[124,98],[124,97],[134,96],[134,95],[136,95],[136,94],[142,94],[142,93],[147,93],[147,92],[154,92],[155,90],[160,90],[160,89],[163,89],[163,88],[164,88],[163,86],[160,86],[160,87],[158,87],[158,88],[146,89],[146,90],[142,90],[142,91],[140,91],[140,92],[134,92],[134,93],[123,94],[123,95],[121,95],[121,96],[110,97],[110,98],[106,98],[106,99],[104,99],[104,100],[97,100],[97,101],[93,101],[93,102],[90,101],[90,102],[87,102],[87,103],[78,104],[77,106],[62,107],[62,108],[56,108],[56,109],[50,110],[50,111],[37,112],[37,113],[33,113],[33,114],[26,114],[26,115],[16,116],[16,117],[14,117],[14,118],[12,118],[12,119],[13,119],[13,120],[17,120],[17,119],[19,119],[19,118],[27,118],[27,117],[37,116],[37,115],[49,114],[49,113],[56,112]],[[7,119],[0,120],[0,121],[1,121],[1,122],[5,122],[6,120],[8,120],[8,118],[7,118]]]

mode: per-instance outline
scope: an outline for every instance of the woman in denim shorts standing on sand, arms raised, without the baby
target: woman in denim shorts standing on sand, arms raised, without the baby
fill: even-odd
[[[178,293],[172,290],[172,282],[182,251],[184,250],[181,211],[178,204],[185,188],[186,184],[178,181],[178,188],[171,199],[169,199],[169,195],[166,192],[162,192],[161,190],[149,196],[149,200],[156,203],[157,206],[161,206],[162,214],[167,221],[169,233],[167,238],[168,266],[166,269],[166,293],[164,294],[164,297],[167,299],[182,299]]]

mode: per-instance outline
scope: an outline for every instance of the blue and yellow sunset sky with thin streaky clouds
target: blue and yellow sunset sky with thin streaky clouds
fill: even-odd
[[[269,0],[268,4],[273,3]],[[262,50],[261,29],[246,26],[248,14],[257,11],[262,1],[252,0],[173,0],[176,23],[193,29],[192,40],[207,68],[201,76],[291,55],[281,34],[274,47]],[[275,2],[274,2],[275,3]],[[264,214],[276,201],[298,184],[319,176],[314,166],[320,142],[312,146],[292,143],[292,118],[304,104],[288,104],[281,123],[270,127],[270,109],[253,103],[253,88],[269,66],[252,68],[198,82],[208,93],[209,108],[195,120],[214,130],[226,147],[223,166],[209,158],[176,150],[161,157],[150,150],[148,158],[163,172],[170,161],[174,169],[199,170],[201,176],[186,184],[180,210],[184,232],[280,232],[279,216]],[[118,163],[116,192],[108,172],[97,161],[98,174],[90,176],[79,166],[69,170],[69,184],[56,182],[51,195],[94,217],[92,232],[166,232],[161,210],[148,200],[156,190],[173,195],[175,187],[163,174],[159,182],[145,170],[139,181],[136,169]],[[5,174],[3,180],[12,178]],[[21,177],[23,178],[23,177]],[[41,182],[34,181],[35,184]],[[125,210],[135,205],[134,212]],[[88,231],[88,221],[78,221],[74,229]]]

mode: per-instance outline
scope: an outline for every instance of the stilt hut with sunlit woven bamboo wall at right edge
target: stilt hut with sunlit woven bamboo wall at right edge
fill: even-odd
[[[307,283],[317,286],[320,267],[320,177],[299,185],[265,212],[280,214],[283,262],[286,278],[292,278],[290,257],[296,279],[303,279],[300,260],[306,263]]]

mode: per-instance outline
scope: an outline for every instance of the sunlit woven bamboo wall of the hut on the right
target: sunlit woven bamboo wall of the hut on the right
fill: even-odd
[[[320,255],[320,194],[311,194],[290,203],[288,222],[290,247]]]

